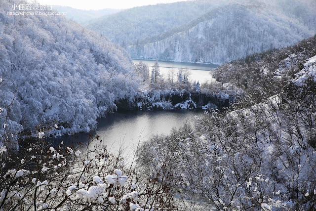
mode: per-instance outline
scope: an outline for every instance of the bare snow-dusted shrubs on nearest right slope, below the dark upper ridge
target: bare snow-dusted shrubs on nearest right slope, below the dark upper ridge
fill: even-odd
[[[166,167],[177,188],[218,210],[313,210],[316,201],[316,113],[274,97],[250,109],[210,113],[195,128],[143,144],[138,161]],[[281,106],[282,105],[282,106]]]

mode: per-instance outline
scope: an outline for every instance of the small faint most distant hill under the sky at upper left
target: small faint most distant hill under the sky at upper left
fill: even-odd
[[[80,24],[87,24],[88,21],[92,19],[107,16],[119,11],[119,9],[83,10],[59,5],[53,5],[52,8],[56,9],[58,12],[67,12],[67,15],[65,16],[66,18],[74,20]]]

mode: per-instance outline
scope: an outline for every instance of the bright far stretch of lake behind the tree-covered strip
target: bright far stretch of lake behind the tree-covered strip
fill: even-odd
[[[133,63],[136,65],[140,61],[147,64],[151,72],[152,67],[154,66],[154,60],[138,60],[133,59]],[[201,64],[201,63],[188,63],[188,62],[170,62],[170,61],[158,61],[160,74],[166,78],[168,71],[171,68],[174,68],[175,74],[179,68],[188,68],[190,72],[190,79],[193,81],[199,81],[199,83],[205,82],[215,82],[215,79],[212,78],[210,71],[217,68],[219,65],[216,64]]]

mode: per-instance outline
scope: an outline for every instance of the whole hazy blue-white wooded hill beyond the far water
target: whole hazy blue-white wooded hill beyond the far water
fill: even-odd
[[[316,2],[176,2],[127,9],[88,27],[125,47],[132,58],[222,63],[314,35]]]

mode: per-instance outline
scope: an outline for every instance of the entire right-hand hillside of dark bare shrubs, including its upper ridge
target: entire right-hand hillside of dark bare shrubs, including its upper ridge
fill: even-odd
[[[214,75],[243,89],[237,103],[144,143],[138,161],[218,210],[315,210],[316,36]]]

